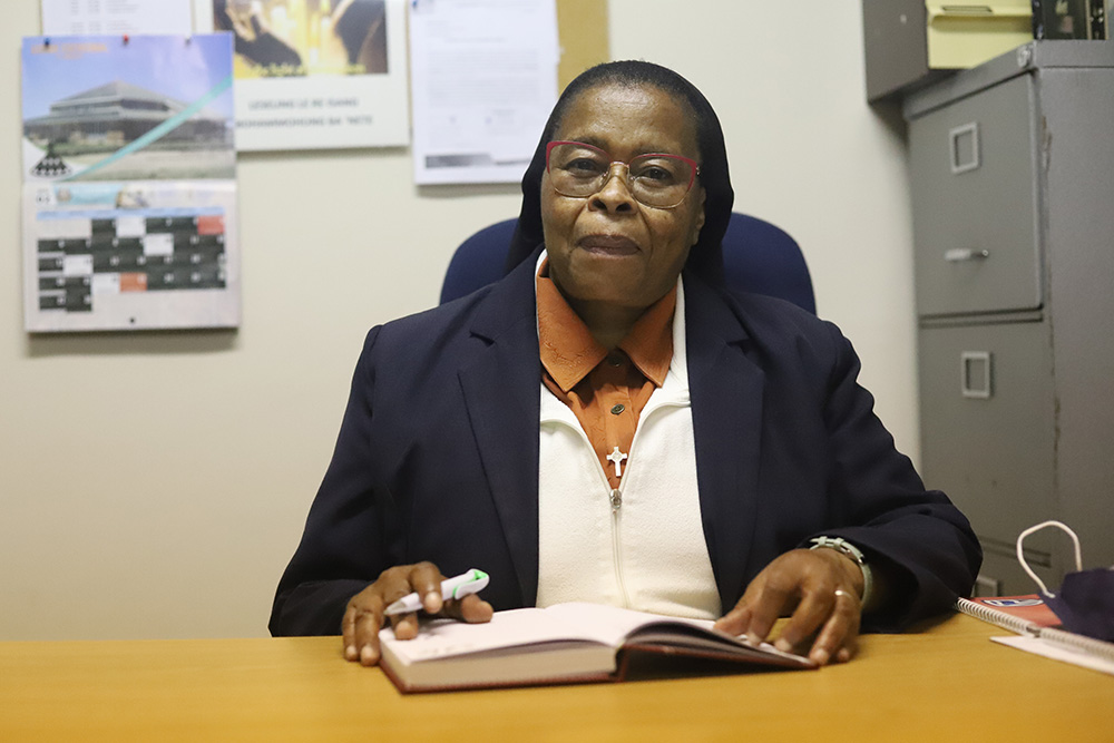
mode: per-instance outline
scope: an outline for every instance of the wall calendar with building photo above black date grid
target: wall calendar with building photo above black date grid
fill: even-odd
[[[28,332],[240,324],[232,37],[22,45]]]

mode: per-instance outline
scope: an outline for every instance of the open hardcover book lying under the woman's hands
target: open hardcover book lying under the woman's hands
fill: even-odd
[[[636,653],[815,667],[769,643],[751,647],[709,620],[598,604],[497,612],[487,624],[433,619],[414,639],[395,639],[389,627],[379,639],[380,665],[401,692],[622,681]]]

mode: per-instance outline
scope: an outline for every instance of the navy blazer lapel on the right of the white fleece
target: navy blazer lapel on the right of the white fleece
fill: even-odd
[[[753,542],[764,374],[725,300],[687,274],[685,316],[701,519],[726,613],[742,595]]]

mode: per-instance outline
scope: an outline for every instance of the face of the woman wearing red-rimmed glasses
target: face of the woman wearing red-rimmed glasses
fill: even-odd
[[[555,140],[594,145],[612,160],[647,153],[700,162],[696,130],[683,104],[654,86],[605,84],[582,92],[565,113]],[[603,303],[645,309],[676,283],[704,225],[700,179],[673,208],[634,198],[622,169],[587,198],[561,196],[541,178],[541,224],[549,275],[576,307]]]

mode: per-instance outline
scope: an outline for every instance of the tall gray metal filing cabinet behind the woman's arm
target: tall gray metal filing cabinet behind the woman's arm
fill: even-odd
[[[1114,41],[1035,41],[905,101],[922,473],[971,519],[979,593],[1056,518],[1114,564]],[[1026,540],[1058,586],[1056,530]],[[1054,588],[1055,589],[1055,588]]]

